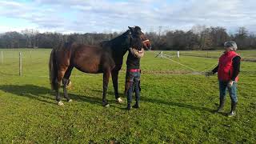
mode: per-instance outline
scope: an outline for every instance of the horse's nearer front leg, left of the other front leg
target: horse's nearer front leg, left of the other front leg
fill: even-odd
[[[110,105],[108,104],[107,100],[106,100],[106,91],[107,91],[107,88],[108,88],[108,84],[109,84],[109,81],[110,81],[110,70],[106,70],[104,73],[103,73],[103,96],[102,96],[102,106],[106,106],[106,107],[109,107]]]

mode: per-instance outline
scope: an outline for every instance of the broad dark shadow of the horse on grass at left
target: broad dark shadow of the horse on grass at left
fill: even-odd
[[[53,90],[50,90],[46,87],[42,86],[34,86],[34,85],[2,85],[0,86],[0,90],[5,91],[10,94],[15,94],[21,97],[31,98],[34,100],[38,100],[41,102],[46,102],[50,104],[56,104],[55,93]],[[62,90],[62,89],[60,89]],[[63,95],[63,94],[61,94]],[[69,94],[70,98],[75,101],[80,102],[89,102],[91,104],[102,105],[102,98],[78,95],[78,94]],[[48,99],[48,100],[47,100]],[[50,101],[49,101],[50,99]],[[62,100],[66,100],[66,98],[62,97]]]

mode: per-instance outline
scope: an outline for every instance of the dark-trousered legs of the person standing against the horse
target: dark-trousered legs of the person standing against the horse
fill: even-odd
[[[135,91],[135,100],[136,104],[139,102],[140,98],[140,91],[139,91],[139,81],[140,81],[140,72],[128,72],[128,80],[130,82],[129,89],[127,91],[127,106],[130,106],[130,103],[132,101],[132,95]]]

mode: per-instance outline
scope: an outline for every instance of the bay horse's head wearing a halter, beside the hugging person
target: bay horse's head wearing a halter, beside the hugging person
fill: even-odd
[[[150,40],[146,38],[146,35],[142,32],[142,29],[139,26],[134,26],[134,27],[128,26],[128,28],[130,29],[130,34],[132,38],[134,38],[134,40],[140,40],[145,50],[151,50]]]

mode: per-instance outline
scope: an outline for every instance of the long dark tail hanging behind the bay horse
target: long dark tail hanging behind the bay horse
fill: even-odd
[[[55,58],[55,50],[53,49],[50,53],[50,61],[49,61],[49,77],[50,77],[50,85],[53,90],[58,89],[58,66]]]

